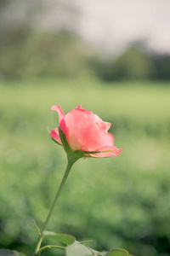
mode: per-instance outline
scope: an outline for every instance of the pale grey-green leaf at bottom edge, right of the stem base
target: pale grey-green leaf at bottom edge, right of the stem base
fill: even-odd
[[[92,256],[94,253],[88,247],[75,241],[71,246],[66,247],[66,256]]]

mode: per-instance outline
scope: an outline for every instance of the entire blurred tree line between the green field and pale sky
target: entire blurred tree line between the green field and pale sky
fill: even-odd
[[[72,78],[93,73],[105,81],[170,79],[170,55],[150,52],[139,42],[118,57],[104,56],[73,32],[75,23],[70,24],[68,13],[76,10],[63,5],[65,2],[56,3],[65,10],[68,20],[54,30],[37,27],[37,20],[44,13],[42,2],[26,3],[22,6],[20,0],[0,1],[0,78]]]

